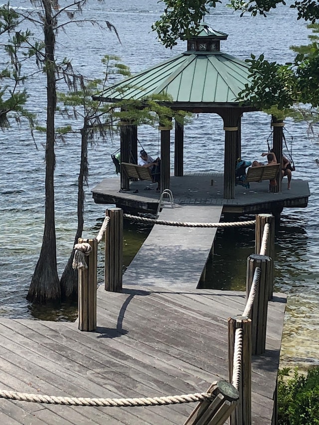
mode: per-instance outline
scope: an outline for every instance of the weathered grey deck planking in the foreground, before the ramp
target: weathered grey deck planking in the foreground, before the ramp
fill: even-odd
[[[0,319],[0,386],[74,397],[204,392],[212,381],[228,379],[226,319],[241,314],[244,303],[238,291],[132,285],[114,293],[99,287],[95,332],[81,332],[76,323]],[[258,425],[271,424],[285,296],[268,308],[266,353],[253,357],[253,423]],[[2,423],[12,425],[183,424],[193,407],[0,401]]]

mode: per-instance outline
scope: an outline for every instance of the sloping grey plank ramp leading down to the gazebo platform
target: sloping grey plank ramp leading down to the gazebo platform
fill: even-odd
[[[218,223],[222,206],[163,208],[165,221]],[[195,288],[205,268],[217,228],[155,224],[123,276],[123,286],[139,284]],[[148,273],[146,273],[146,270]]]

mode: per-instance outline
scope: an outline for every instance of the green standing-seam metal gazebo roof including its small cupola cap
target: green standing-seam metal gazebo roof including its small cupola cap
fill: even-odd
[[[226,39],[227,34],[201,25],[197,37]],[[202,38],[199,38],[201,40]],[[199,42],[199,41],[198,41]],[[217,41],[219,43],[219,41]],[[238,93],[250,84],[248,65],[221,51],[186,51],[107,88],[95,99],[107,102],[143,100],[167,94],[177,104],[238,104]],[[218,44],[219,46],[219,44]],[[226,105],[224,105],[226,106]]]

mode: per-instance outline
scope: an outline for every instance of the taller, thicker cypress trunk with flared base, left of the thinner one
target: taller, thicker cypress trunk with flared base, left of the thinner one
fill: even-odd
[[[47,124],[45,148],[45,223],[40,257],[34,270],[27,300],[45,304],[61,299],[61,288],[56,264],[54,219],[54,113],[56,107],[56,80],[54,61],[54,22],[50,0],[42,0],[45,10],[44,42],[45,72],[47,77]]]

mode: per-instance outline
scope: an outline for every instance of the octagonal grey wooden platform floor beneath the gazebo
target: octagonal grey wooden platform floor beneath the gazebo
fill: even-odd
[[[130,191],[119,192],[120,178],[105,178],[92,189],[93,199],[97,204],[116,204],[124,210],[154,212],[157,210],[160,194],[155,191],[156,184],[149,183],[145,180],[132,181]],[[182,177],[171,176],[170,185],[177,204],[221,205],[223,214],[277,213],[282,208],[304,208],[310,196],[308,182],[294,176],[291,190],[287,189],[286,177],[280,193],[270,193],[268,181],[252,182],[249,189],[236,186],[234,199],[223,199],[222,173],[196,172]]]

